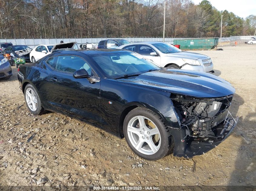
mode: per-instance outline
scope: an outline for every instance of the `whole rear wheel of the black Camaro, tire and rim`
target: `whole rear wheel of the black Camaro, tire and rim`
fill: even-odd
[[[41,100],[37,91],[31,84],[27,84],[24,90],[25,102],[28,110],[34,115],[40,115],[44,112]]]

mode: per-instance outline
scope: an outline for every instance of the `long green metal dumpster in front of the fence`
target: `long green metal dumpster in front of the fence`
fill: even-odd
[[[218,38],[182,39],[173,40],[173,44],[179,44],[181,50],[209,50],[217,47],[218,40]]]

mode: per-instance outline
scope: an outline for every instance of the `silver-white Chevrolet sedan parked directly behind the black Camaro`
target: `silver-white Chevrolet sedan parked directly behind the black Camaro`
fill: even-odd
[[[138,42],[125,44],[117,47],[117,49],[132,50],[161,67],[214,72],[213,63],[209,56],[182,51],[169,43]]]

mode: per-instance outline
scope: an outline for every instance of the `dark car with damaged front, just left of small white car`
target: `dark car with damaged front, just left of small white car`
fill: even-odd
[[[16,58],[25,59],[26,62],[30,62],[29,53],[31,52],[32,48],[26,45],[12,45],[8,46],[5,49],[5,53],[13,54]],[[14,62],[14,61],[11,61]],[[11,63],[13,65],[13,63]]]

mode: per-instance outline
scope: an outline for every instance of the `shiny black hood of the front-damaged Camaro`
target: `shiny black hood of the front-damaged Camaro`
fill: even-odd
[[[231,84],[206,72],[161,69],[118,81],[193,97],[214,98],[235,93]]]

